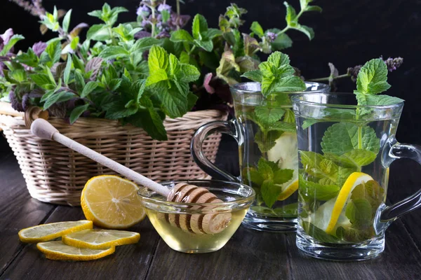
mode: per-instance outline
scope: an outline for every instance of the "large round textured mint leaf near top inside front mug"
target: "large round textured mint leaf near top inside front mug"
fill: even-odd
[[[342,155],[354,149],[363,149],[375,154],[380,149],[380,139],[368,125],[359,127],[353,123],[335,123],[328,127],[321,141],[323,153]]]

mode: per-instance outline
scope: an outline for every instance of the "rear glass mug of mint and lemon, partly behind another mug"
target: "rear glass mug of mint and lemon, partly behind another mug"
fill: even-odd
[[[306,83],[305,92],[329,92],[328,85]],[[298,151],[295,118],[290,97],[279,92],[265,98],[260,83],[239,83],[231,88],[235,119],[203,125],[192,139],[192,156],[211,176],[252,186],[256,200],[243,225],[255,230],[295,231],[297,226]],[[213,165],[203,154],[209,134],[231,135],[239,144],[241,176]]]

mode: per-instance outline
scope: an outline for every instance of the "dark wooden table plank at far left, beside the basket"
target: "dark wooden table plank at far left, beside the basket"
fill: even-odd
[[[54,208],[29,196],[13,153],[0,153],[0,275],[25,247],[18,231],[42,223]]]

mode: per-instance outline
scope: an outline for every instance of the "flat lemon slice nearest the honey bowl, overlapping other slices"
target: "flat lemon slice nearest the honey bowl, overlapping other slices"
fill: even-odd
[[[102,249],[112,246],[138,242],[138,232],[124,230],[81,230],[62,237],[62,242],[69,246],[90,249]]]

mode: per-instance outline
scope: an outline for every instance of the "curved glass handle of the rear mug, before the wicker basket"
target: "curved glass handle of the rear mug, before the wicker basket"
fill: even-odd
[[[242,137],[239,133],[239,125],[236,120],[227,120],[227,121],[215,121],[211,123],[206,123],[199,127],[199,129],[194,133],[192,137],[192,141],[190,143],[190,151],[192,153],[192,157],[196,165],[209,174],[212,177],[223,178],[228,181],[232,182],[239,182],[241,180],[232,175],[228,172],[223,171],[222,169],[218,168],[214,165],[208,158],[206,158],[205,153],[203,153],[203,141],[205,141],[206,137],[213,133],[225,133],[231,135],[236,139],[237,143],[241,145]]]

